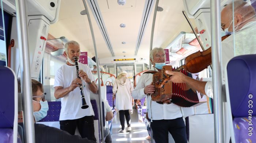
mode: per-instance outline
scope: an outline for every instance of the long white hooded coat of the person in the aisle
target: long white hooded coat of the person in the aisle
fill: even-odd
[[[117,110],[132,110],[133,85],[127,77],[116,79],[113,84],[113,94],[116,94],[116,109]]]

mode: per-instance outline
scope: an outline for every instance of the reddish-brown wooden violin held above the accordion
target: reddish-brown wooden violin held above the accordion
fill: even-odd
[[[225,40],[229,36],[230,35],[221,37],[221,41]],[[184,65],[181,65],[174,71],[180,71],[181,69],[185,69],[186,71],[193,74],[203,71],[209,65],[211,65],[211,47],[203,52],[198,51],[196,53],[192,53],[191,55],[186,57],[184,63]]]

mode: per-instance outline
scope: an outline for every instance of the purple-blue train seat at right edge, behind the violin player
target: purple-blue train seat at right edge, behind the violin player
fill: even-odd
[[[233,127],[234,130],[231,138],[237,143],[247,143],[256,138],[256,105],[253,105],[253,102],[256,102],[255,59],[256,55],[241,55],[234,57],[227,64],[227,102],[230,101],[229,114],[233,116],[231,129]]]

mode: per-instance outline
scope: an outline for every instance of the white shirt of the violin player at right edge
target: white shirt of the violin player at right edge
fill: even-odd
[[[225,84],[224,73],[227,63],[235,56],[256,53],[256,21],[246,23],[234,35],[230,35],[222,41],[222,83]],[[234,37],[235,36],[235,40]],[[234,43],[235,42],[235,43]],[[235,45],[234,45],[235,44]],[[206,83],[204,91],[207,96],[213,98],[212,81]]]

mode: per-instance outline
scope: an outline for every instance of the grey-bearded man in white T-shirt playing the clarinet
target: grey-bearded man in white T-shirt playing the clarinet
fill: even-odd
[[[61,98],[60,129],[74,135],[78,127],[82,138],[96,141],[94,112],[90,102],[90,91],[97,92],[94,76],[90,67],[81,63],[78,63],[80,71],[77,75],[75,60],[79,59],[80,46],[76,41],[69,41],[65,44],[64,54],[67,56],[67,63],[57,70],[54,81],[54,96],[56,99]],[[86,109],[81,108],[80,89],[83,90],[84,98],[89,106]]]

